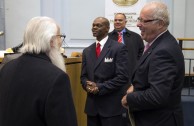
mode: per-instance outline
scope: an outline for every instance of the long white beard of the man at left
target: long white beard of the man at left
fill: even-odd
[[[51,50],[48,53],[48,57],[51,59],[51,62],[57,66],[62,71],[66,72],[64,58],[60,53],[60,48],[51,47]]]

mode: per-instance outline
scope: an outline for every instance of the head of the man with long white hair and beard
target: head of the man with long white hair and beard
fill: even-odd
[[[60,54],[62,40],[60,28],[49,17],[32,18],[25,29],[22,53],[45,53],[52,63],[65,71],[64,59]]]

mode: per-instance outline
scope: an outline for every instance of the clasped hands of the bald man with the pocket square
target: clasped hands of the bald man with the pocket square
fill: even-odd
[[[99,89],[95,82],[92,81],[86,81],[86,90],[89,93],[96,94],[99,92]]]

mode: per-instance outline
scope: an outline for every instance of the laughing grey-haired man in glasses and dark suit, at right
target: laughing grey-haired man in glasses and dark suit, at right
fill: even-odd
[[[140,58],[122,104],[133,111],[136,126],[183,126],[181,89],[184,58],[167,30],[169,15],[162,2],[147,3],[137,26],[149,44]]]

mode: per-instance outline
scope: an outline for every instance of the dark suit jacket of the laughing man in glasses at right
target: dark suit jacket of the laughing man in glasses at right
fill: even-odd
[[[135,68],[135,91],[127,95],[136,126],[182,126],[184,58],[169,31],[144,53]]]

